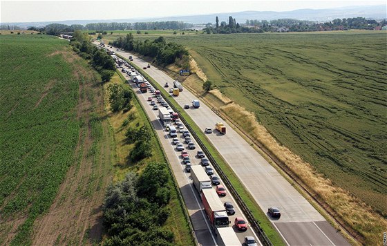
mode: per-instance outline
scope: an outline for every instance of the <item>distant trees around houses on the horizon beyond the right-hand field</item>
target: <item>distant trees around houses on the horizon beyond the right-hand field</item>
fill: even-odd
[[[373,30],[377,26],[386,25],[387,21],[380,22],[374,19],[366,19],[364,17],[334,19],[332,21],[317,22],[317,21],[301,21],[298,19],[277,19],[272,21],[247,20],[246,26],[255,26],[262,28],[265,32],[276,31],[276,28],[287,28],[292,32],[309,32],[319,30],[348,30],[348,29],[364,29]]]

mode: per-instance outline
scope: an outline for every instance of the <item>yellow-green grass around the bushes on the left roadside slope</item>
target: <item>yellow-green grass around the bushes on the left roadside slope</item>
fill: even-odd
[[[111,83],[125,84],[125,82],[126,80],[122,75],[115,73],[111,81],[104,85],[105,91],[107,91],[107,87]],[[126,85],[129,86],[128,84]],[[153,128],[151,127],[149,118],[145,114],[142,106],[140,106],[140,103],[136,98],[137,97],[135,97],[135,99],[132,101],[133,107],[130,111],[127,111],[126,113],[110,113],[109,121],[113,126],[115,144],[117,146],[115,164],[117,171],[115,173],[115,181],[122,180],[128,171],[142,171],[142,169],[149,162],[167,162],[160,142],[158,141],[158,138],[156,137]],[[108,106],[108,93],[105,94],[105,102],[106,111],[110,111],[110,107]],[[151,157],[141,160],[140,162],[133,163],[128,159],[128,155],[129,152],[133,149],[134,144],[126,143],[126,129],[137,128],[139,125],[141,126],[143,124],[147,126],[148,131],[151,132],[151,139],[149,141],[151,142],[152,146],[152,155]],[[176,184],[173,184],[172,177],[170,182],[171,186],[176,186]],[[171,208],[172,213],[164,227],[170,231],[173,231],[176,245],[187,245],[189,242],[193,242],[193,238],[190,234],[188,221],[185,217],[184,204],[181,202],[182,200],[179,200],[178,198],[178,191],[173,189],[171,191],[171,200],[169,202],[169,207]]]

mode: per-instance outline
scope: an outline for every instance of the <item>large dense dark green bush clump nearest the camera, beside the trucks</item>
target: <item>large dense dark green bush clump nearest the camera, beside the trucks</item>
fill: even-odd
[[[109,238],[102,245],[173,245],[174,234],[163,227],[171,208],[171,176],[167,164],[150,163],[140,176],[106,191],[103,223]]]

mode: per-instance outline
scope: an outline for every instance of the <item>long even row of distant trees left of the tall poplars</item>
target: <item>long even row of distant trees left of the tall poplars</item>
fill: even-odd
[[[149,22],[111,22],[88,23],[85,30],[156,30],[156,29],[184,29],[191,28],[193,24],[182,21],[149,21]]]

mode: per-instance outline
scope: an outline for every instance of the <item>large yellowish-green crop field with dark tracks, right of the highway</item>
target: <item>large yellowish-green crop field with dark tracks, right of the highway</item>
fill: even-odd
[[[276,140],[386,216],[386,32],[165,38]]]

